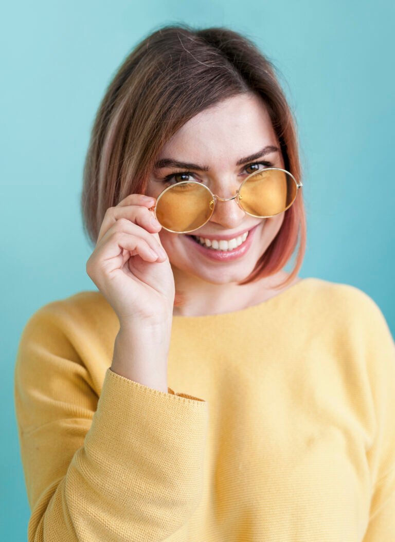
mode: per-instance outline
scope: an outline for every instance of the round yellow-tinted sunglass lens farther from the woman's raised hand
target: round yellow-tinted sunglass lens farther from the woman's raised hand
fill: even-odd
[[[267,169],[246,179],[239,192],[239,202],[251,215],[273,216],[288,209],[296,192],[295,180],[289,173]]]

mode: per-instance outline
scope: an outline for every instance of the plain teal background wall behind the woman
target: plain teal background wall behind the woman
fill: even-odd
[[[82,165],[119,64],[167,23],[224,25],[252,38],[281,72],[297,119],[308,224],[300,275],[362,289],[395,334],[395,4],[37,0],[2,11],[0,510],[4,540],[26,540],[16,349],[39,307],[96,289],[85,271],[91,249],[79,214]]]

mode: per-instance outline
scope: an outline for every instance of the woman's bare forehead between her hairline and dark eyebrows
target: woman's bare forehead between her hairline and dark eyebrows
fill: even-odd
[[[278,141],[263,99],[241,94],[188,120],[164,145],[161,158],[245,156],[270,144]]]

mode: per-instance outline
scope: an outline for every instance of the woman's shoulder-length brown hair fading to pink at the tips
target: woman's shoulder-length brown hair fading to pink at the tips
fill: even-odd
[[[118,68],[92,126],[81,211],[93,246],[106,210],[130,193],[145,193],[166,141],[197,113],[231,96],[252,92],[263,98],[285,170],[300,182],[295,120],[275,72],[249,38],[227,28],[170,24],[145,37]],[[279,272],[294,253],[299,234],[295,267],[276,288],[287,286],[302,266],[306,223],[301,190],[276,237],[239,284]],[[175,305],[180,299],[176,293]]]

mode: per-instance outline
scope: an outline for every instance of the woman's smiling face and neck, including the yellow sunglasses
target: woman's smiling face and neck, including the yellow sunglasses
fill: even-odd
[[[253,92],[206,108],[164,144],[145,193],[157,199],[161,242],[176,289],[186,292],[173,314],[228,312],[273,295],[265,268],[249,277],[296,203],[299,185],[284,163],[265,102]],[[190,242],[196,236],[213,242]]]

